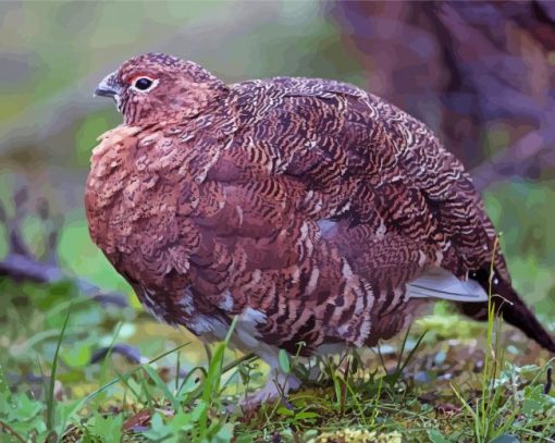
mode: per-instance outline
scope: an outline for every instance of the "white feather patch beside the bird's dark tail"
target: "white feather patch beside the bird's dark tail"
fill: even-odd
[[[451,272],[434,268],[407,284],[410,298],[443,298],[454,302],[488,302],[488,293],[474,280],[461,281]]]

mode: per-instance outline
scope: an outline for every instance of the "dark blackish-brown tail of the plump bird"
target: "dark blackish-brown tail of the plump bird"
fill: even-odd
[[[495,272],[490,283],[490,271],[480,270],[471,279],[478,281],[485,291],[493,294],[492,302],[494,310],[503,319],[521,330],[540,346],[555,353],[555,341],[547,331],[540,324],[534,313],[525,305],[510,282],[503,280]],[[460,303],[458,307],[462,313],[474,320],[488,320],[488,303]]]

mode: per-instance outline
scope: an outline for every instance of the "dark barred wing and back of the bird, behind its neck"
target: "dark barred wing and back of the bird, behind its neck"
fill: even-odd
[[[424,124],[337,82],[276,78],[242,87],[250,99],[243,137],[261,156],[258,167],[301,185],[296,213],[316,220],[390,303],[428,270],[414,296],[432,294],[433,283],[435,296],[483,299],[472,283],[439,279],[441,269],[465,279],[491,261],[495,231],[470,176]],[[272,106],[250,104],[264,101]],[[503,257],[495,260],[504,270]]]

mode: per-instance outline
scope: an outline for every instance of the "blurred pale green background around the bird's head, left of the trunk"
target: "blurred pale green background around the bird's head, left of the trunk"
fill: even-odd
[[[314,2],[3,2],[0,17],[0,193],[10,199],[25,183],[32,207],[48,199],[64,218],[62,266],[107,288],[125,283],[91,245],[83,210],[90,150],[121,122],[111,101],[92,98],[103,75],[134,54],[163,51],[227,82],[319,75],[362,83]]]

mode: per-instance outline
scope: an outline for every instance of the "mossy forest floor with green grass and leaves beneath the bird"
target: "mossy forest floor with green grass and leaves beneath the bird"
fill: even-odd
[[[311,361],[316,382],[244,411],[268,369],[225,343],[205,348],[71,283],[0,293],[3,442],[555,442],[551,356],[447,305],[378,349]]]

